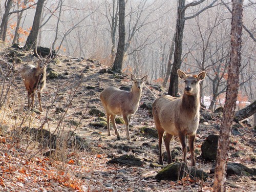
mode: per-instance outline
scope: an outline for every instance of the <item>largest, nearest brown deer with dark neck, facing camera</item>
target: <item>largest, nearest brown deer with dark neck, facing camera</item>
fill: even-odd
[[[172,163],[170,156],[170,140],[178,136],[182,145],[183,159],[186,163],[186,136],[188,137],[191,165],[195,166],[194,142],[197,134],[200,116],[200,81],[205,78],[203,71],[198,75],[187,75],[178,70],[178,76],[184,80],[185,88],[182,97],[164,95],[153,103],[153,118],[158,133],[159,164],[163,164],[162,140],[167,151],[168,164]]]

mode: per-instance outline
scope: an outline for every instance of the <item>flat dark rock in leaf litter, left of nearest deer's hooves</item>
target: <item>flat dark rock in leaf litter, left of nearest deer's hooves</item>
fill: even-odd
[[[128,166],[142,166],[143,162],[141,159],[136,158],[133,155],[123,155],[121,157],[117,157],[114,159],[109,160],[107,163],[113,164],[120,164],[120,165],[128,165]]]

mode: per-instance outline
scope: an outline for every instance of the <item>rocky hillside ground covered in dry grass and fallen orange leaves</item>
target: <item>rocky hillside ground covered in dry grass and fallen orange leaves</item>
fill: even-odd
[[[57,78],[47,77],[47,86],[42,92],[44,111],[37,113],[27,110],[27,92],[20,77],[20,69],[25,63],[33,63],[32,52],[24,52],[22,63],[15,63],[12,72],[4,60],[10,49],[0,43],[1,90],[0,98],[0,190],[1,191],[213,191],[214,174],[210,169],[215,162],[204,161],[201,155],[203,141],[210,134],[219,134],[216,125],[221,119],[206,110],[212,120],[200,123],[195,147],[198,157],[197,168],[209,174],[206,181],[184,178],[180,181],[157,181],[154,177],[161,167],[158,163],[158,139],[140,132],[142,127],[154,128],[154,121],[147,110],[138,109],[131,119],[131,141],[127,141],[125,125],[117,124],[121,140],[117,140],[113,129],[108,136],[104,127],[94,127],[93,108],[104,112],[99,94],[108,87],[132,86],[129,75],[99,73],[107,69],[98,61],[58,56],[48,65],[48,69],[59,74]],[[22,51],[20,51],[22,52]],[[35,64],[34,64],[35,65]],[[49,74],[47,74],[49,75]],[[7,78],[4,78],[4,77]],[[155,97],[167,90],[155,89],[146,83],[140,103],[152,103]],[[36,98],[37,99],[37,98]],[[37,103],[37,100],[36,100]],[[49,151],[40,142],[23,132],[25,126],[43,129],[61,136],[58,140],[68,140],[69,133],[83,137],[87,148],[79,150],[71,144],[57,146],[54,156],[46,157]],[[6,131],[5,131],[6,130]],[[255,156],[253,128],[248,124],[239,130],[243,136],[231,136],[232,148],[229,161],[239,162],[255,168],[251,157]],[[66,143],[66,142],[60,142]],[[181,146],[177,137],[170,143],[171,148]],[[244,155],[231,157],[243,151]],[[163,152],[165,148],[163,147]],[[132,154],[140,158],[142,166],[108,164],[113,157]],[[182,154],[177,161],[182,160]],[[188,164],[189,161],[188,155]],[[164,162],[167,165],[167,162]],[[255,191],[255,177],[228,176],[226,191]]]

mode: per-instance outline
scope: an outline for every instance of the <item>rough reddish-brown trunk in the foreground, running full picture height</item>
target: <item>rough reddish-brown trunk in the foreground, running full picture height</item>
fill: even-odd
[[[239,68],[241,66],[241,36],[243,0],[232,1],[231,50],[228,67],[226,102],[223,109],[223,119],[215,168],[214,191],[226,191],[226,169],[230,143],[230,131],[239,89]]]

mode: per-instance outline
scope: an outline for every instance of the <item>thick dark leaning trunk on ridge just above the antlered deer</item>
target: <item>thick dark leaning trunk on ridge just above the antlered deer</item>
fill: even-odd
[[[30,31],[30,34],[24,46],[26,50],[31,50],[36,47],[36,41],[37,41],[37,36],[38,36],[39,27],[41,23],[41,15],[42,15],[42,9],[44,8],[44,3],[45,3],[45,0],[38,0],[37,2],[32,29]]]

